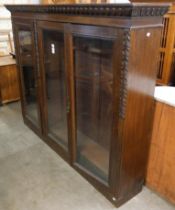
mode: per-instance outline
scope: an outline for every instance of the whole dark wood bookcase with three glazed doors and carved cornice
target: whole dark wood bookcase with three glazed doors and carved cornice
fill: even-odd
[[[6,7],[24,122],[120,206],[144,183],[168,5]]]

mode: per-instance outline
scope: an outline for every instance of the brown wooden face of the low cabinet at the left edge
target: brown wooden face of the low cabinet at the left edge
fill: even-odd
[[[16,65],[0,67],[2,103],[19,100],[19,82]]]

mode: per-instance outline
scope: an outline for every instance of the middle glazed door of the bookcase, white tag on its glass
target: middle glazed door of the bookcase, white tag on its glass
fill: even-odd
[[[64,153],[68,150],[69,102],[66,88],[63,25],[39,21],[38,34],[44,89],[45,135]]]

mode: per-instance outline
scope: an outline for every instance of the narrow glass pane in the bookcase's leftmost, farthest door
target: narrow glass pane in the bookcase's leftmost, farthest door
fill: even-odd
[[[32,33],[29,29],[18,32],[21,69],[24,83],[24,101],[27,117],[39,127],[37,107],[37,84],[32,50]]]

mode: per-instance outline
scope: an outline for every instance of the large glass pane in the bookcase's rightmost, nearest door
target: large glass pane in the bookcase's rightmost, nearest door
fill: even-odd
[[[108,180],[113,41],[74,37],[77,162]]]

